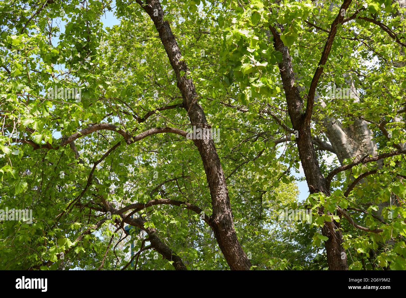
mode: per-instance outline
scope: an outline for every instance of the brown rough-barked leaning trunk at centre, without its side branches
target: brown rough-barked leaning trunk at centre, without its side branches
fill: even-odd
[[[182,60],[181,51],[177,45],[175,36],[168,22],[164,21],[164,12],[160,2],[158,0],[147,0],[146,4],[144,4],[140,0],[137,0],[137,3],[148,13],[155,28],[158,30],[169,62],[175,71],[177,87],[182,94],[183,104],[186,111],[188,111],[190,123],[196,126],[196,128],[210,128],[204,111],[198,103],[192,79],[188,79],[186,76],[189,70],[186,62]],[[216,236],[218,246],[231,270],[248,270],[251,267],[251,263],[242,250],[237,239],[237,234],[235,233],[225,176],[214,146],[214,141],[212,139],[194,140],[194,144],[199,150],[209,184],[213,207],[211,227]]]

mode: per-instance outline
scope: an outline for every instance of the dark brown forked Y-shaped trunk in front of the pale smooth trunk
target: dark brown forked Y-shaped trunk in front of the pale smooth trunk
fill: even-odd
[[[351,1],[349,0],[345,2],[345,9],[348,7],[350,2]],[[328,53],[336,32],[335,26],[337,26],[339,21],[341,21],[341,19],[339,16],[337,16],[333,22],[332,30],[330,30],[330,32],[333,32],[333,35],[331,33],[329,35],[319,65],[324,65],[323,60],[327,59],[328,57]],[[322,67],[317,67],[308,94],[307,109],[306,111],[303,111],[303,101],[300,97],[299,90],[295,85],[296,79],[292,67],[292,59],[289,55],[289,49],[283,45],[280,34],[272,27],[270,27],[270,30],[274,37],[274,48],[277,51],[280,51],[283,57],[282,62],[279,63],[279,71],[281,73],[283,89],[285,91],[289,117],[291,119],[293,129],[297,130],[299,133],[298,138],[296,138],[296,144],[298,146],[300,161],[302,163],[302,168],[306,177],[309,191],[310,193],[324,193],[326,195],[330,195],[330,189],[327,185],[327,181],[320,171],[310,130],[310,118],[313,103],[309,103],[309,101],[313,101],[314,99],[314,91],[317,86],[317,81],[320,78]],[[322,209],[319,210],[319,214],[323,214]],[[322,228],[322,234],[328,237],[328,240],[325,242],[328,268],[330,270],[347,270],[347,257],[342,247],[343,240],[341,231],[339,230],[339,223],[334,220],[332,220],[332,222],[325,222]]]

